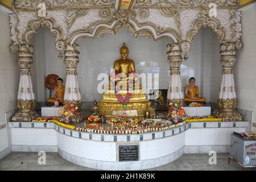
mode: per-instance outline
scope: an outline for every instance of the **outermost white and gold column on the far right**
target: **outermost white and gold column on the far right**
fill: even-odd
[[[236,87],[234,84],[233,67],[237,61],[236,58],[236,44],[233,42],[221,44],[221,60],[222,67],[222,80],[220,86],[220,94],[218,105],[220,110],[216,116],[222,118],[222,121],[242,121],[242,115],[235,109],[237,106]]]

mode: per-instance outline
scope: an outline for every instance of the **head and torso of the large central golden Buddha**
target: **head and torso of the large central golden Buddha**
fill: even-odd
[[[134,61],[128,59],[129,49],[126,47],[126,44],[123,43],[123,46],[120,49],[121,59],[118,59],[114,62],[115,75],[119,73],[123,77],[129,77],[129,73],[135,72]]]

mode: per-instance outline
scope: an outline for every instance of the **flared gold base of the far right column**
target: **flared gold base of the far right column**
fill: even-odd
[[[219,99],[218,106],[220,110],[216,113],[216,117],[222,118],[222,121],[242,121],[243,117],[235,109],[237,99]]]

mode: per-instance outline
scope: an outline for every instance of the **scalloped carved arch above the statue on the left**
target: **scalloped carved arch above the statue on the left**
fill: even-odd
[[[31,42],[32,36],[36,33],[38,27],[48,27],[55,35],[55,46],[57,51],[63,50],[63,30],[55,25],[55,20],[52,18],[35,19],[28,23],[27,30],[22,35],[22,44],[29,44]]]

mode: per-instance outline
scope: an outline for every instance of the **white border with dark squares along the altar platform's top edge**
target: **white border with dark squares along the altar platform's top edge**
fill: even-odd
[[[216,125],[213,125],[213,124]],[[170,137],[173,135],[177,135],[183,133],[189,129],[196,129],[196,128],[224,128],[224,127],[248,127],[249,122],[191,122],[186,123],[185,125],[172,128],[169,130],[164,131],[152,131],[143,134],[96,134],[96,133],[88,133],[83,131],[77,130],[70,130],[55,123],[34,123],[31,125],[31,122],[9,122],[10,127],[19,127],[19,128],[31,128],[31,129],[55,129],[55,131],[68,135],[69,137],[86,139],[86,140],[95,140],[101,142],[137,142],[137,141],[145,141],[145,140],[154,140],[160,139],[165,137]],[[2,126],[2,125],[1,125]],[[6,125],[4,126],[6,127]],[[0,128],[1,129],[1,128]]]

